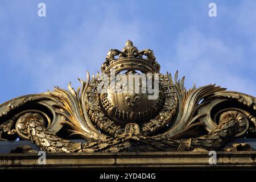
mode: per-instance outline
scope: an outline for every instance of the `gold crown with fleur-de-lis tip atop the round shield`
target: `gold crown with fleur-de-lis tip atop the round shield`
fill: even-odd
[[[156,62],[151,49],[139,51],[133,46],[133,42],[128,40],[123,51],[111,49],[106,56],[106,61],[101,66],[101,71],[110,74],[114,69],[115,74],[121,71],[141,71],[142,73],[159,73],[160,65]]]

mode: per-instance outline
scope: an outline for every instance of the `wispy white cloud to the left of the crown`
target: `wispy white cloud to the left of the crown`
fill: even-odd
[[[102,10],[103,6],[94,7],[97,9],[94,11]],[[108,4],[108,7],[117,8],[113,4]],[[20,30],[11,53],[15,60],[12,64],[22,64],[22,70],[30,72],[37,89],[35,92],[52,90],[53,85],[67,88],[69,81],[77,88],[80,86],[77,78],[84,79],[86,70],[89,70],[91,75],[100,71],[110,48],[124,47],[127,39],[135,42],[139,40],[139,26],[136,20],[124,23],[122,18],[116,16],[115,11],[105,10],[102,14],[84,18],[82,23],[71,30],[60,31],[61,46],[52,52],[35,52],[27,44],[28,35]],[[51,16],[47,15],[47,18]],[[72,17],[69,17],[69,21],[72,21]],[[119,22],[117,26],[115,22]],[[51,28],[44,31],[51,31]]]

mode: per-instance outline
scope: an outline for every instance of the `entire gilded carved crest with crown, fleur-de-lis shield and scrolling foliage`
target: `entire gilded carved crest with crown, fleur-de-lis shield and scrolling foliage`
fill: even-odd
[[[14,98],[0,105],[0,140],[31,140],[46,152],[230,151],[234,138],[255,137],[255,97],[215,85],[187,90],[177,72],[172,80],[159,71],[153,51],[128,40],[122,51],[109,51],[101,74],[110,82],[111,75],[157,75],[151,85],[137,80],[122,92],[127,82],[115,80],[114,92],[106,83],[101,92],[102,75],[87,73],[77,90],[69,84]],[[158,88],[157,97],[143,88]]]

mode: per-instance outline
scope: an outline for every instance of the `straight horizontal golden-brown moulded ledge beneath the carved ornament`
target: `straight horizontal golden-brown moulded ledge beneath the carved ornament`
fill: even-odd
[[[210,165],[208,152],[144,152],[47,154],[39,164],[37,154],[2,154],[0,169],[256,169],[256,151],[217,152]]]

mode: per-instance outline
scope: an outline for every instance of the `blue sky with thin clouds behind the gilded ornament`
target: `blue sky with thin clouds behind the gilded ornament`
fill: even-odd
[[[46,3],[46,17],[38,3]],[[208,5],[217,5],[210,18]],[[0,103],[100,71],[131,39],[190,88],[211,83],[256,96],[256,1],[0,1]]]

